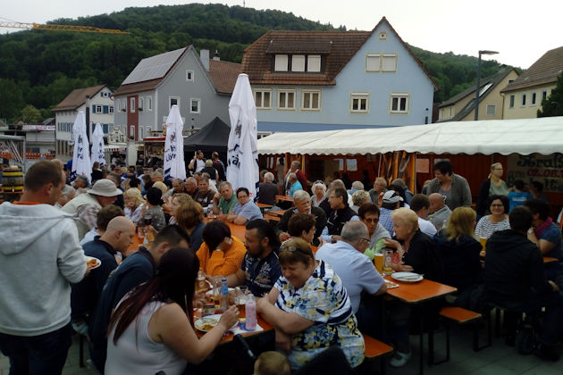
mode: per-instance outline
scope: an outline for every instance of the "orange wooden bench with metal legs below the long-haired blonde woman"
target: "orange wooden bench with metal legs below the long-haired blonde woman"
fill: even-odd
[[[464,309],[463,307],[447,305],[441,308],[439,312],[440,317],[445,321],[453,321],[459,325],[471,324],[473,329],[473,350],[478,352],[479,350],[491,346],[492,334],[490,327],[488,328],[487,344],[484,346],[479,346],[479,322],[483,320],[483,315],[479,312],[473,312],[471,310]],[[488,324],[491,325],[490,322]],[[442,362],[450,361],[450,326],[445,324],[446,327],[446,357],[439,362],[433,362],[433,364],[439,364]],[[432,335],[430,333],[429,335]],[[433,347],[431,348],[433,351]],[[432,356],[431,356],[432,358]]]

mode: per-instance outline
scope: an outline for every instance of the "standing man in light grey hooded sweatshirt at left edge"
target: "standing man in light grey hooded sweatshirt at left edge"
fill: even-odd
[[[10,373],[60,374],[71,346],[71,286],[87,273],[53,162],[27,171],[17,203],[0,205],[0,351]]]

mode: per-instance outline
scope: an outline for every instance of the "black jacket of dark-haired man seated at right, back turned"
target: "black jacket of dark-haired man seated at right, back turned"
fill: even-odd
[[[497,304],[520,304],[532,293],[551,292],[543,276],[540,249],[515,230],[500,230],[487,241],[483,271],[485,294]]]

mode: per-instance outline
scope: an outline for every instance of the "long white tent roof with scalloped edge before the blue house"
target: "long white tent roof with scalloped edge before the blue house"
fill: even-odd
[[[553,154],[562,133],[563,117],[275,133],[258,140],[258,154]]]

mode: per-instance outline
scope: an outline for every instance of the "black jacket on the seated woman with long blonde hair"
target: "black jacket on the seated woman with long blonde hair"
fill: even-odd
[[[459,241],[448,240],[441,230],[434,236],[434,242],[444,267],[444,283],[463,291],[478,284],[481,276],[481,244],[474,237],[463,235]]]

